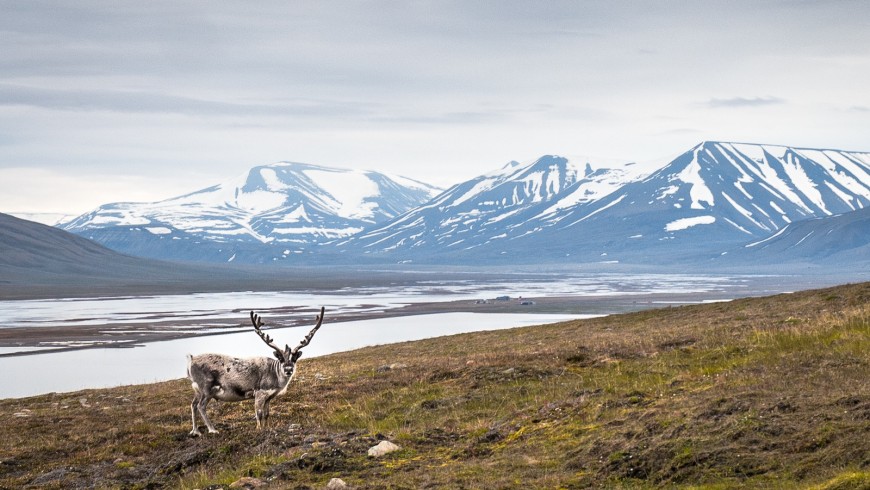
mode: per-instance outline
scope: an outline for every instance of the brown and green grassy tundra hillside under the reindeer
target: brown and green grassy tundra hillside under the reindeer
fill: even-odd
[[[868,305],[864,283],[303,359],[272,427],[213,403],[201,438],[183,380],[0,400],[0,487],[870,488]]]

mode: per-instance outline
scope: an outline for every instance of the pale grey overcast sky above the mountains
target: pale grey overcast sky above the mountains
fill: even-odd
[[[870,2],[0,0],[0,212],[297,161],[440,186],[704,140],[870,151]]]

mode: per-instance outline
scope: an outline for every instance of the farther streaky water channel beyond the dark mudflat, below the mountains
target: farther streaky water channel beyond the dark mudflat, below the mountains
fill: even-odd
[[[755,281],[754,279],[752,279]],[[419,281],[401,287],[338,291],[269,291],[181,295],[61,298],[0,301],[0,328],[74,327],[77,325],[149,324],[172,327],[195,321],[200,326],[238,324],[240,312],[289,306],[316,311],[378,312],[420,302],[473,300],[496,296],[542,297],[713,293],[741,296],[749,277],[701,274],[536,274],[511,280]],[[306,315],[313,318],[312,313]]]

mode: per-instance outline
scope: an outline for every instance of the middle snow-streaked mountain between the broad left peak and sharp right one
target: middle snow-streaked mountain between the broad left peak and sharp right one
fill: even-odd
[[[562,210],[595,202],[651,170],[637,164],[595,169],[588,162],[554,155],[525,165],[510,162],[337,246],[373,255],[393,253],[405,260],[497,246],[534,233]]]

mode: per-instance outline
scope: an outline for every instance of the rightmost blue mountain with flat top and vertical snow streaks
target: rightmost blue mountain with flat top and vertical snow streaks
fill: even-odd
[[[870,206],[870,154],[704,142],[649,177],[556,227],[582,233],[589,251],[635,256],[721,250],[807,218]]]

